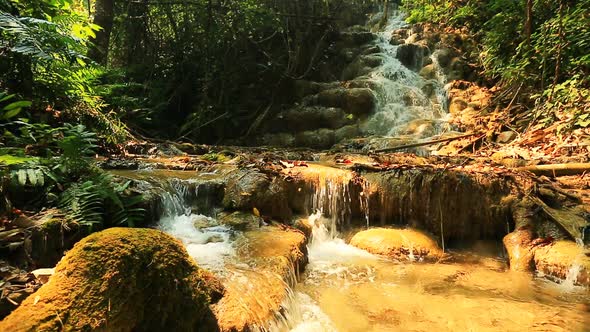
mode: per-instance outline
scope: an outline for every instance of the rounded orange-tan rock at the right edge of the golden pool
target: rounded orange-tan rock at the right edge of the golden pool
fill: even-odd
[[[590,286],[590,256],[573,241],[557,241],[535,250],[535,267],[545,275]]]

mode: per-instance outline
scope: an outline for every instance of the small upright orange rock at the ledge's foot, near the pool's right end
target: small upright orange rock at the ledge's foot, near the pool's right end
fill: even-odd
[[[522,272],[533,270],[533,238],[530,227],[521,227],[504,237],[502,242],[508,252],[510,270]]]

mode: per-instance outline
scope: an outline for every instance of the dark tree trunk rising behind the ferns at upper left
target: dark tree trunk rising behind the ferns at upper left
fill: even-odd
[[[114,0],[96,0],[93,23],[102,29],[96,32],[96,38],[92,40],[93,45],[88,50],[88,57],[95,62],[106,65],[109,40],[113,29],[113,2]]]

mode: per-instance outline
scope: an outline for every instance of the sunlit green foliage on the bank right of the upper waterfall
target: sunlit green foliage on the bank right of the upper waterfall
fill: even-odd
[[[426,3],[426,4],[425,4]],[[522,86],[534,108],[529,118],[561,130],[585,128],[590,109],[590,1],[534,0],[525,35],[527,1],[404,0],[411,22],[469,27],[480,41],[477,58],[503,87]],[[561,11],[560,11],[560,5]]]

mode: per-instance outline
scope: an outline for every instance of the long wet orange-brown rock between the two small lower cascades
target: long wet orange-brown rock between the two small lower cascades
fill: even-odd
[[[306,238],[298,230],[263,227],[241,241],[237,254],[252,268],[228,267],[225,295],[213,306],[221,331],[256,331],[280,315],[286,285],[293,286],[307,263]]]

